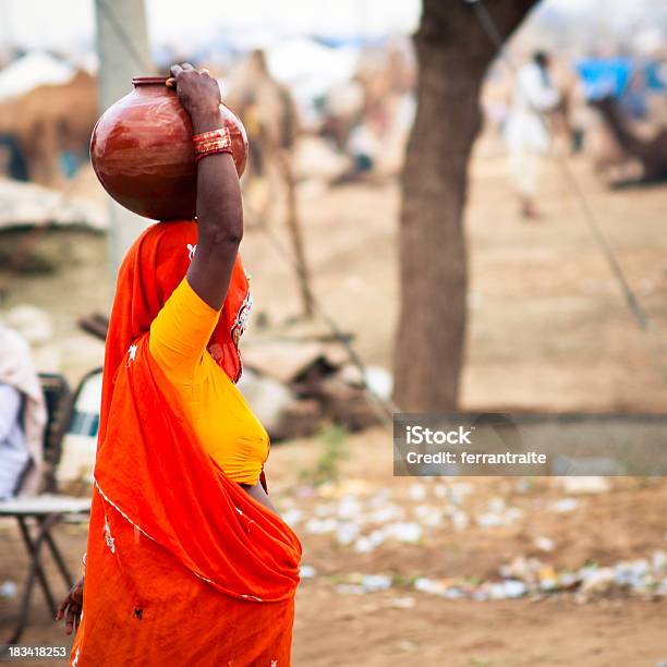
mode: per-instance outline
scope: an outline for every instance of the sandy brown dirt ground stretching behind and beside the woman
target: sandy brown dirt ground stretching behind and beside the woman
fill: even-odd
[[[575,178],[617,253],[644,307],[665,328],[667,238],[663,233],[667,187],[609,192],[586,165]],[[508,193],[500,157],[477,157],[472,167],[466,219],[471,255],[470,328],[463,405],[548,411],[664,411],[667,385],[655,363],[651,339],[633,323],[577,201],[553,166],[542,197],[545,217],[525,223]],[[315,292],[339,325],[354,332],[372,364],[390,366],[397,304],[396,182],[351,184],[317,196],[305,193],[301,210]],[[15,235],[0,235],[0,252],[12,252]],[[54,325],[53,342],[38,360],[53,360],[75,380],[101,360],[101,345],[76,330],[75,320],[106,311],[111,289],[104,268],[106,244],[83,231],[47,232],[34,253],[54,264],[45,275],[11,277],[2,307],[31,303]],[[299,310],[293,276],[267,237],[250,227],[245,264],[253,275],[259,313],[271,326]],[[0,269],[0,279],[7,275]],[[253,327],[245,344],[253,344]],[[45,368],[46,369],[46,368]],[[49,368],[49,369],[52,369]],[[317,439],[274,448],[269,482],[280,508],[299,510],[295,529],[304,542],[304,563],[315,575],[299,591],[294,664],[517,666],[655,666],[667,659],[664,598],[633,593],[582,601],[573,593],[520,599],[445,599],[415,591],[416,577],[498,577],[517,556],[538,557],[549,567],[575,569],[596,561],[651,558],[667,548],[664,507],[667,484],[624,480],[609,493],[577,498],[567,513],[549,504],[563,497],[553,481],[521,486],[516,478],[474,478],[465,497],[471,516],[494,498],[519,508],[509,525],[474,521],[456,530],[450,521],[425,527],[417,544],[387,541],[372,553],[341,546],[332,534],[306,527],[320,506],[354,496],[365,502],[378,493],[413,517],[426,504],[436,511],[438,482],[420,481],[425,499],[411,494],[413,480],[391,476],[391,442],[372,429],[345,441],[341,485],[313,490],[303,480],[315,465]],[[302,474],[303,472],[303,474]],[[318,509],[320,508],[320,509]],[[436,508],[436,509],[434,509]],[[544,553],[536,539],[554,548]],[[61,526],[58,538],[72,566],[85,545],[85,530]],[[25,561],[19,534],[0,522],[0,583],[22,580]],[[388,590],[355,595],[339,590],[350,575],[387,574]],[[344,590],[344,589],[343,589]],[[38,595],[25,643],[59,643]],[[0,599],[0,631],[7,634],[16,598]],[[27,663],[26,663],[27,664]]]

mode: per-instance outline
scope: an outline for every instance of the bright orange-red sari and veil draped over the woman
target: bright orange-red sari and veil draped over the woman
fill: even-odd
[[[155,225],[119,272],[74,667],[291,664],[299,538],[204,451],[148,351],[196,237]],[[237,259],[208,348],[234,381],[247,298]]]

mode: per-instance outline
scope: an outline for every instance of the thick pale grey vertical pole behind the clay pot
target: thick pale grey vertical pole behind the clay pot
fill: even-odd
[[[100,112],[132,90],[132,77],[154,72],[144,0],[95,0]],[[109,264],[122,258],[148,220],[109,199]]]

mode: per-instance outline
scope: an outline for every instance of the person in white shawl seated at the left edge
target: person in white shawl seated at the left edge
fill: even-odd
[[[0,499],[39,490],[46,421],[29,345],[0,325]]]

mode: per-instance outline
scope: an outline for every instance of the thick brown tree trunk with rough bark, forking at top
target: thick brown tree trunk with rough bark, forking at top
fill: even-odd
[[[487,0],[506,38],[536,0]],[[395,399],[407,412],[454,410],[465,337],[468,162],[482,116],[480,88],[496,56],[464,0],[423,0],[414,36],[417,112],[402,174],[401,312]]]

